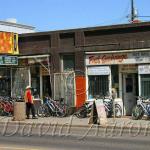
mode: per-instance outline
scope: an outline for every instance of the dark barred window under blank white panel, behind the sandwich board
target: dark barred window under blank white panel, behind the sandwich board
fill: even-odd
[[[108,75],[89,76],[89,95],[92,97],[107,95],[109,91]]]

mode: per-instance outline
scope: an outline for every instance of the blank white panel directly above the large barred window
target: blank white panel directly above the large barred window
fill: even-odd
[[[109,66],[88,67],[88,75],[109,75]]]

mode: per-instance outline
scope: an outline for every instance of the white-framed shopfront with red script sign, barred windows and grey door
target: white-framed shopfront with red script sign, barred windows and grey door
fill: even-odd
[[[124,114],[131,115],[137,96],[149,97],[150,52],[138,50],[126,53],[86,55],[88,96],[109,95],[116,89],[124,106]]]

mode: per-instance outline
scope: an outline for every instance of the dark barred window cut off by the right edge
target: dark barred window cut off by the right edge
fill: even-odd
[[[150,75],[141,75],[141,95],[150,98]]]

